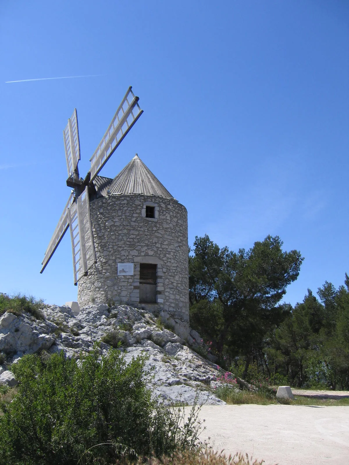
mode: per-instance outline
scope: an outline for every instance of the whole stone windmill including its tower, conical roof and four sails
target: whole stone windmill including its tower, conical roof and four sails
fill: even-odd
[[[78,170],[76,109],[68,120],[63,136],[67,186],[73,190],[41,273],[69,228],[81,307],[91,303],[150,307],[184,335],[189,322],[186,208],[137,154],[114,179],[98,175],[143,113],[138,100],[130,86],[90,159],[85,179]]]

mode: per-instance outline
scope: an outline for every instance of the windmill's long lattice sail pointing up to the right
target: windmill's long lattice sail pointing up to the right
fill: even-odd
[[[91,181],[101,171],[109,157],[119,146],[121,140],[126,136],[128,131],[143,113],[138,105],[138,97],[134,96],[132,86],[128,87],[125,97],[121,101],[119,108],[116,110],[114,118],[110,123],[103,139],[90,158],[91,161]]]

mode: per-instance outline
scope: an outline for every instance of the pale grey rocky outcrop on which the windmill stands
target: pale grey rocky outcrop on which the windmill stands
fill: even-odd
[[[190,343],[205,350],[197,332],[191,331],[188,340],[181,339],[153,313],[128,305],[90,305],[77,315],[67,306],[48,305],[41,311],[42,321],[28,313],[5,312],[0,317],[0,353],[5,362],[0,383],[13,385],[8,367],[24,354],[64,351],[67,357],[79,359],[95,342],[100,342],[101,354],[109,350],[108,343],[119,343],[127,361],[148,355],[148,385],[163,401],[181,400],[190,405],[198,392],[199,402],[224,404],[213,394],[222,371],[189,347]]]

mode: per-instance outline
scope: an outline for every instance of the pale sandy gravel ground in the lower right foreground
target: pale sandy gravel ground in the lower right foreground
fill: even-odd
[[[349,465],[349,407],[203,405],[199,418],[215,450],[265,465]]]

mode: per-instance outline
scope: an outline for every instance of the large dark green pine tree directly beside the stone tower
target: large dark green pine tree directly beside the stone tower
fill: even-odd
[[[191,325],[212,339],[219,354],[245,355],[246,372],[253,351],[261,351],[265,335],[288,313],[277,304],[297,279],[301,253],[283,252],[278,236],[255,242],[248,251],[220,248],[208,235],[196,237],[194,247],[189,256]]]

